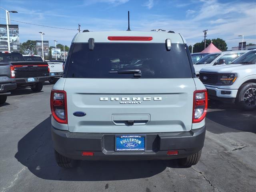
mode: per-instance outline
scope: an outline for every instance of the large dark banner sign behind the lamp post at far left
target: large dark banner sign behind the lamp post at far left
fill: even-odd
[[[19,26],[9,25],[10,48],[11,51],[20,51]],[[7,29],[6,25],[0,24],[0,51],[8,51]]]

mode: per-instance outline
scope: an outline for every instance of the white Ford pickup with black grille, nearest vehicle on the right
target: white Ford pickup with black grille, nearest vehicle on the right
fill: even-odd
[[[230,64],[203,68],[200,80],[210,99],[235,102],[244,110],[256,109],[256,50]]]

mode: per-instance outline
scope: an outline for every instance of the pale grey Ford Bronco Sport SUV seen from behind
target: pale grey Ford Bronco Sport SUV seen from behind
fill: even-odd
[[[192,166],[201,156],[207,92],[172,31],[76,34],[50,103],[61,167],[157,159]]]

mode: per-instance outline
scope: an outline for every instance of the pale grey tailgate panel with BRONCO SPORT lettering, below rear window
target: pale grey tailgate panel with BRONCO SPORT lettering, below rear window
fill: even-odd
[[[66,78],[64,90],[70,132],[180,132],[192,128],[196,90],[192,78]],[[73,115],[81,111],[86,116]]]

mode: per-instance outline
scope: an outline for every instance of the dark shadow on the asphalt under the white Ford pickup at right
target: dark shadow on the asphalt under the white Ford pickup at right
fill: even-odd
[[[256,133],[256,111],[243,111],[235,104],[209,102],[206,129],[212,133],[252,132]],[[216,124],[217,123],[217,124]]]

